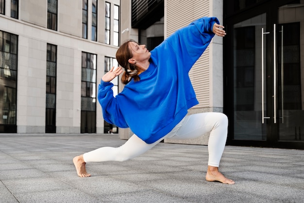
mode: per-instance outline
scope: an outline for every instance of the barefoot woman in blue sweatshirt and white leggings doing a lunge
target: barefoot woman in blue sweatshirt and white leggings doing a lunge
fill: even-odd
[[[210,132],[207,181],[235,184],[218,170],[226,138],[228,119],[222,113],[186,115],[198,104],[188,72],[203,54],[212,37],[224,37],[217,18],[200,18],[176,31],[149,52],[133,40],[122,44],[116,54],[118,64],[101,78],[98,100],[104,119],[135,134],[119,148],[104,147],[73,159],[77,174],[89,177],[87,162],[126,161],[164,138],[190,139]],[[113,97],[110,83],[123,72],[122,92]]]

